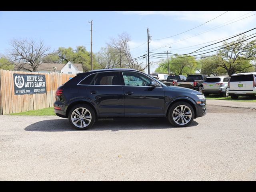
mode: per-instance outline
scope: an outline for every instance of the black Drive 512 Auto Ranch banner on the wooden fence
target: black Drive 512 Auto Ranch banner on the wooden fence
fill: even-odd
[[[13,74],[16,95],[46,93],[45,75]]]

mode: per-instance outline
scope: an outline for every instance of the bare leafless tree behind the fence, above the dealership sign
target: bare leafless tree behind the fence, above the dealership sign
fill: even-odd
[[[12,48],[8,54],[9,61],[16,66],[17,70],[35,72],[42,64],[42,60],[50,54],[50,47],[45,46],[43,41],[14,39],[10,45]]]

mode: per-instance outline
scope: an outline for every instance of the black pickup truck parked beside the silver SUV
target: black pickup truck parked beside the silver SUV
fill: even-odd
[[[186,80],[177,80],[177,86],[186,87],[202,92],[203,82],[208,75],[194,74],[188,75]]]

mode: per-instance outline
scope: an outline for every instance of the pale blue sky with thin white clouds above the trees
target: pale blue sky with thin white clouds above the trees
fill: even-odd
[[[94,53],[126,32],[132,56],[137,58],[147,53],[147,28],[152,36],[150,52],[187,54],[255,28],[256,11],[0,11],[0,54],[7,53],[14,38],[44,40],[52,51],[80,45],[90,51],[90,20]],[[154,62],[150,72],[159,60],[150,56]],[[138,62],[146,65],[146,58]]]

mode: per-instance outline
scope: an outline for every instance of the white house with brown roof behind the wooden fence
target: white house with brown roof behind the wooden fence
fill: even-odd
[[[29,68],[29,65],[26,66],[26,68]],[[20,71],[27,71],[27,70],[20,70]],[[38,66],[36,72],[42,72],[42,73],[56,72],[56,73],[77,74],[77,73],[83,72],[83,67],[81,63],[72,63],[70,61],[67,64],[42,63],[40,66]]]

